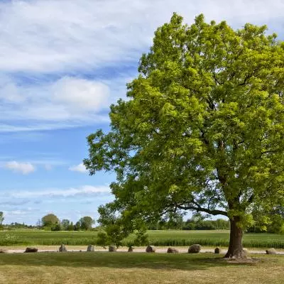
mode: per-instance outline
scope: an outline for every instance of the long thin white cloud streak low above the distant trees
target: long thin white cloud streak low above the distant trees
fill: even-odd
[[[17,191],[11,192],[11,197],[16,198],[38,198],[38,197],[74,197],[76,195],[95,195],[99,193],[110,193],[108,186],[84,185],[82,187],[70,187],[65,190],[49,189],[40,191]]]

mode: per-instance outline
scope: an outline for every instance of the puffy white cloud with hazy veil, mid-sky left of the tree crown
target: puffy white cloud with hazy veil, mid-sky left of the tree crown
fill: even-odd
[[[7,83],[7,80],[10,82]],[[7,84],[10,86],[8,89]],[[13,89],[12,94],[10,89]],[[106,121],[106,115],[97,112],[109,106],[109,87],[102,82],[77,77],[21,86],[2,76],[0,102],[0,121],[13,122],[12,125],[3,124],[2,132],[60,129],[80,126],[86,121]],[[15,121],[20,125],[15,125]],[[21,121],[29,121],[29,126],[22,126]],[[60,124],[55,123],[57,121]]]

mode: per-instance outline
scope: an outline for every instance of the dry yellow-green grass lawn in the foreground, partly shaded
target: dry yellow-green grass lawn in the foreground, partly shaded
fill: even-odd
[[[284,283],[284,256],[228,263],[212,253],[2,253],[0,283]]]

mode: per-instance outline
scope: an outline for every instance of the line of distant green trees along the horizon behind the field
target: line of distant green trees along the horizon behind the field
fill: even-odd
[[[259,216],[257,216],[259,214]],[[270,219],[263,219],[260,212],[254,212],[256,221],[253,226],[246,229],[249,233],[270,233],[284,234],[284,209],[278,207],[271,212]],[[94,219],[89,216],[80,218],[75,224],[69,219],[58,219],[55,214],[47,214],[38,220],[36,225],[27,225],[25,223],[12,222],[11,224],[2,224],[4,213],[0,212],[0,229],[45,229],[50,231],[80,231],[91,230],[95,224]],[[229,230],[230,222],[222,218],[216,220],[206,219],[201,214],[195,214],[192,218],[184,220],[180,214],[168,214],[164,219],[158,222],[147,222],[148,230]],[[99,229],[99,228],[98,228]]]

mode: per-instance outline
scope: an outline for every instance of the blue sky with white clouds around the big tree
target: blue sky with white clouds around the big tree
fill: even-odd
[[[86,137],[109,131],[158,26],[266,24],[284,40],[283,0],[0,0],[0,211],[4,224],[45,214],[98,218],[113,173],[90,176]]]

